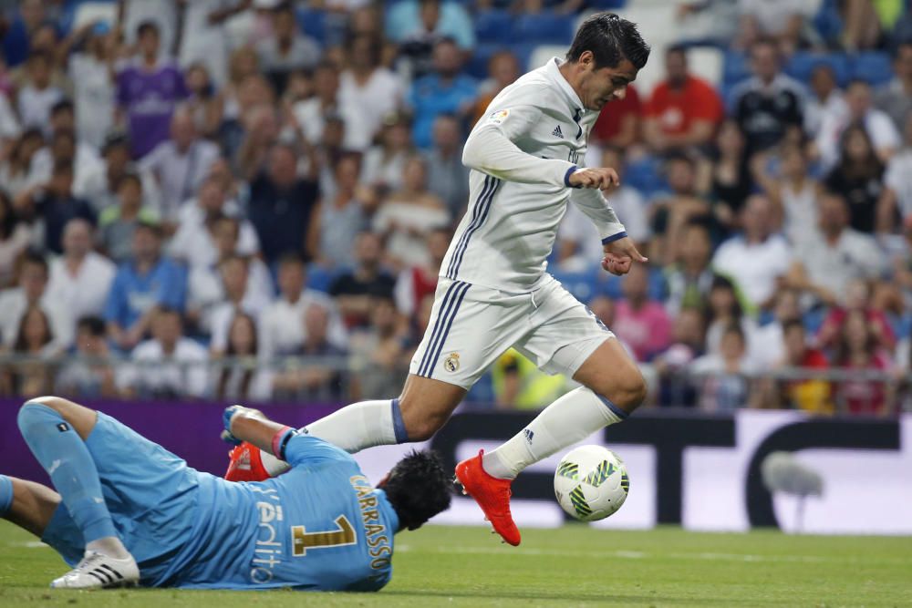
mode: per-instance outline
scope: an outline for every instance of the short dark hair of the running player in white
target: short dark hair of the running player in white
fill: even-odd
[[[649,45],[639,35],[637,25],[614,13],[596,13],[576,30],[567,61],[579,61],[585,51],[591,51],[596,67],[617,67],[627,59],[642,69],[649,58]]]

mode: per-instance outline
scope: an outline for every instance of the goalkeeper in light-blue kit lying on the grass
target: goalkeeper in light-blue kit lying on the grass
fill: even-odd
[[[393,535],[450,506],[432,454],[410,454],[373,488],[347,452],[257,410],[229,407],[224,422],[227,438],[291,469],[233,483],[101,412],[33,399],[19,428],[57,491],[0,475],[0,516],[75,565],[52,587],[376,591],[392,575]]]

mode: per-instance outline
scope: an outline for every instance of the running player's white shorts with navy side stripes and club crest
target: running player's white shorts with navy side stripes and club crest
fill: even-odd
[[[513,346],[542,371],[572,377],[612,337],[550,274],[524,294],[440,277],[409,372],[470,388]]]

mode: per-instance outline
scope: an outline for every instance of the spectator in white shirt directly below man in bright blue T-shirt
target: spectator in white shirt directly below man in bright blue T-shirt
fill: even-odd
[[[181,314],[160,307],[152,322],[152,339],[133,349],[133,364],[120,371],[124,397],[203,397],[208,388],[205,347],[183,335]]]

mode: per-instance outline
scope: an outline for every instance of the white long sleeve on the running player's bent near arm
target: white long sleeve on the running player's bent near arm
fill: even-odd
[[[533,106],[515,106],[481,119],[466,139],[462,164],[501,180],[569,187],[569,178],[576,170],[574,163],[541,159],[513,143],[529,133],[541,113]]]

